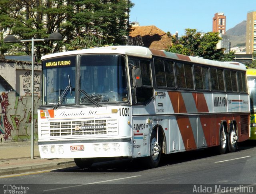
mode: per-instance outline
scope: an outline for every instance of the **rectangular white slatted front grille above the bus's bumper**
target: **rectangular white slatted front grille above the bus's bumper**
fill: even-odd
[[[81,126],[95,126],[81,129]],[[101,126],[101,128],[97,128]],[[81,120],[50,122],[50,136],[100,136],[118,135],[117,120]]]

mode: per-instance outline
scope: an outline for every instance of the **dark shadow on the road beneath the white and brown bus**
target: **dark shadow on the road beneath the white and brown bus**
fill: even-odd
[[[238,151],[247,150],[256,147],[256,140],[246,140],[238,143]],[[219,155],[216,147],[205,148],[201,150],[192,150],[188,152],[177,152],[168,155],[162,155],[159,167],[179,164],[201,158],[208,158]],[[90,168],[79,168],[77,166],[52,170],[52,172],[84,172],[84,173],[100,173],[100,172],[140,172],[148,170],[143,160],[140,158],[110,160],[106,162],[96,162]]]

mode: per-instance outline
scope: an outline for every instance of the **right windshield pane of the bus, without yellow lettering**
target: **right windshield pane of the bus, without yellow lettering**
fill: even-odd
[[[125,58],[86,54],[80,58],[80,104],[128,101]]]

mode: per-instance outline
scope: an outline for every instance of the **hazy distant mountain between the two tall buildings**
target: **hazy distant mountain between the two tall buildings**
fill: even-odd
[[[226,31],[226,34],[230,36],[231,47],[245,46],[246,43],[246,20],[237,24],[234,28],[230,28]]]

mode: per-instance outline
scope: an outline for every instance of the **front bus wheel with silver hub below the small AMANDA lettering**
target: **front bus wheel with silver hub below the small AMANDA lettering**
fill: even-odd
[[[160,142],[160,137],[158,137],[157,142],[157,134],[156,130],[154,130],[150,137],[150,145],[149,145],[149,154],[146,158],[146,164],[149,168],[156,168],[160,162],[161,153],[162,153],[162,144]]]

